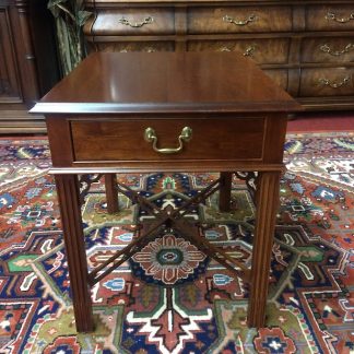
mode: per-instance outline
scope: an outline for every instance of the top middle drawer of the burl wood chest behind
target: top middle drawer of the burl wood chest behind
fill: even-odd
[[[290,7],[189,8],[188,33],[257,33],[292,30]]]

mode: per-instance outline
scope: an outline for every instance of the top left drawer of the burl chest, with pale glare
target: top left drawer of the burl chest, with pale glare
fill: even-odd
[[[130,8],[101,11],[91,35],[158,35],[175,33],[174,10],[169,8]]]

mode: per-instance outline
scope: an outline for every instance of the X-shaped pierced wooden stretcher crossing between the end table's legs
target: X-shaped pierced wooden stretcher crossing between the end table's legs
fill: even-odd
[[[194,245],[199,250],[203,251],[209,257],[228,269],[235,276],[241,278],[244,281],[249,282],[250,270],[245,267],[240,261],[232,258],[226,251],[220,247],[214,246],[208,241],[201,234],[200,223],[191,223],[184,217],[192,208],[201,202],[204,202],[210,196],[219,191],[221,188],[221,178],[213,181],[201,192],[184,202],[177,209],[168,205],[161,209],[150,202],[146,198],[139,194],[139,192],[117,182],[116,189],[129,198],[132,203],[139,204],[141,210],[145,211],[148,215],[154,216],[154,221],[146,224],[138,224],[137,237],[123,249],[117,251],[109,257],[105,262],[96,267],[88,274],[88,284],[92,286],[111,273],[116,268],[126,262],[134,253],[139,252],[151,240],[156,238],[156,233],[163,228],[172,228],[179,232],[180,236]],[[110,264],[110,266],[109,266]]]

